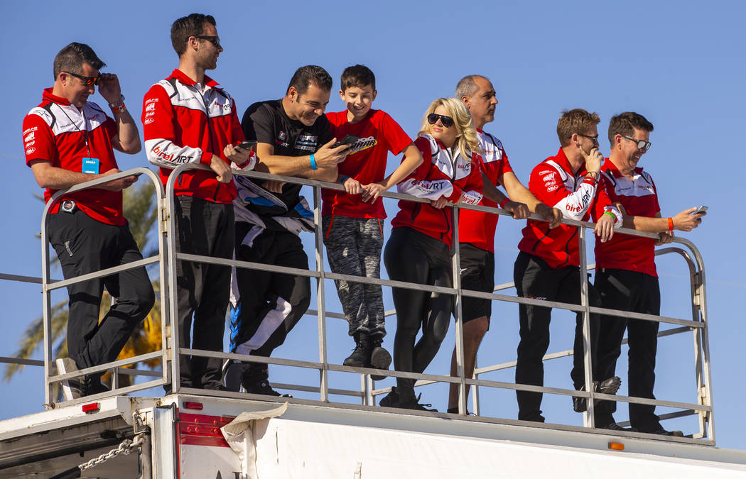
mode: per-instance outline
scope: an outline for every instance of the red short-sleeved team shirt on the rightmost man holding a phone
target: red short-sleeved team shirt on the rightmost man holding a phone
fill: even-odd
[[[634,180],[625,177],[608,158],[601,167],[609,197],[627,210],[627,215],[654,218],[660,212],[658,191],[653,178],[642,168],[635,168]],[[594,212],[598,221],[598,212]],[[596,267],[639,271],[658,277],[655,267],[655,240],[639,236],[614,235],[601,243],[596,238]]]

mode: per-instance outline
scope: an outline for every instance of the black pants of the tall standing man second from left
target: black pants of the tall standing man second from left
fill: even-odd
[[[178,252],[233,258],[235,222],[231,203],[180,195],[175,197],[175,215]],[[177,261],[176,274],[179,346],[188,348],[191,343],[192,349],[222,351],[231,267]],[[217,389],[222,384],[222,359],[181,355],[179,368],[183,387]]]

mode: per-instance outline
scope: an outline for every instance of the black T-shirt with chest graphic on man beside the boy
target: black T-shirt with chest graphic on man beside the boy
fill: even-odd
[[[331,139],[329,121],[325,115],[319,116],[309,127],[289,118],[282,100],[252,104],[244,112],[241,126],[247,141],[272,145],[278,156],[310,155]],[[282,193],[275,195],[292,209],[298,203],[299,191],[301,185],[286,183]]]

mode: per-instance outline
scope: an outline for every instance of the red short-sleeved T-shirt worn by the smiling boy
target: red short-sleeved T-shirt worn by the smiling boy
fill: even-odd
[[[357,123],[347,120],[347,110],[327,113],[332,136],[341,140],[345,135],[360,136],[348,150],[345,161],[337,168],[340,175],[359,181],[363,185],[378,183],[386,177],[386,157],[389,151],[398,155],[412,143],[399,124],[381,110],[370,110],[365,119]],[[348,218],[386,218],[383,199],[363,203],[360,194],[322,189],[322,215],[342,215]]]

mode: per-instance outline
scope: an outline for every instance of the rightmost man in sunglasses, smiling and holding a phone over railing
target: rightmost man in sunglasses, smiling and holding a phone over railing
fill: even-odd
[[[596,239],[595,288],[604,308],[660,314],[660,288],[655,265],[655,246],[671,242],[674,229],[691,231],[699,226],[703,214],[692,215],[686,209],[673,218],[662,218],[658,192],[653,178],[638,166],[651,147],[653,124],[636,112],[624,112],[609,122],[611,151],[601,167],[609,197],[626,210],[624,226],[660,233],[659,241],[639,236],[615,235],[602,243]],[[595,215],[598,218],[598,215]],[[621,354],[621,340],[627,329],[629,350],[630,396],[655,399],[655,361],[659,323],[654,321],[604,316],[598,339],[598,374],[614,375]],[[655,406],[629,403],[630,425],[640,431],[682,436],[681,431],[666,431],[655,414]],[[594,410],[600,428],[619,428],[612,416],[616,403],[600,402]]]

